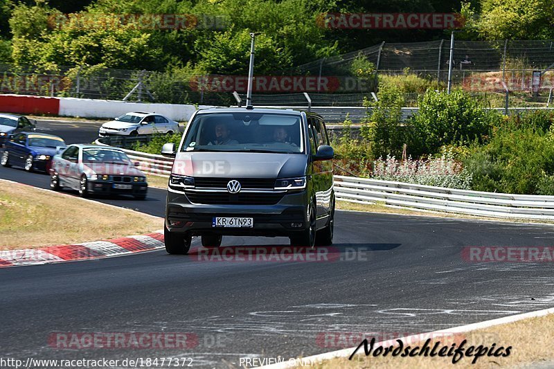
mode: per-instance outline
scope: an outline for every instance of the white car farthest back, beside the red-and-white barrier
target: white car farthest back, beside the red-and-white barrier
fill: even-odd
[[[143,111],[123,114],[98,129],[98,136],[137,136],[139,134],[178,133],[179,123],[166,116]]]

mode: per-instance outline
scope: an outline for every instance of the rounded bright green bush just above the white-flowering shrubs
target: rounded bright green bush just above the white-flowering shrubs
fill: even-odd
[[[485,110],[463,91],[427,91],[419,111],[409,122],[408,150],[411,154],[436,154],[443,145],[483,143],[501,116]]]

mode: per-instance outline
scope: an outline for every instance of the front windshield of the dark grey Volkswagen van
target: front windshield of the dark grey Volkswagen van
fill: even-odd
[[[197,114],[181,151],[301,153],[302,132],[301,117],[293,114]]]

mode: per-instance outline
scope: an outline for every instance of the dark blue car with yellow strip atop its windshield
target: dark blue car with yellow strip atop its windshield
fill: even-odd
[[[7,168],[18,165],[27,172],[48,172],[52,157],[65,147],[64,140],[58,136],[19,132],[6,141],[0,164]]]

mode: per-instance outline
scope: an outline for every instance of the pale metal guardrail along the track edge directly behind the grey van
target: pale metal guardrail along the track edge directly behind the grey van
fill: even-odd
[[[98,143],[98,141],[97,141]],[[99,143],[102,145],[102,143]],[[172,158],[122,149],[147,174],[168,177]],[[334,176],[338,200],[495,218],[554,219],[554,196],[512,195]]]

